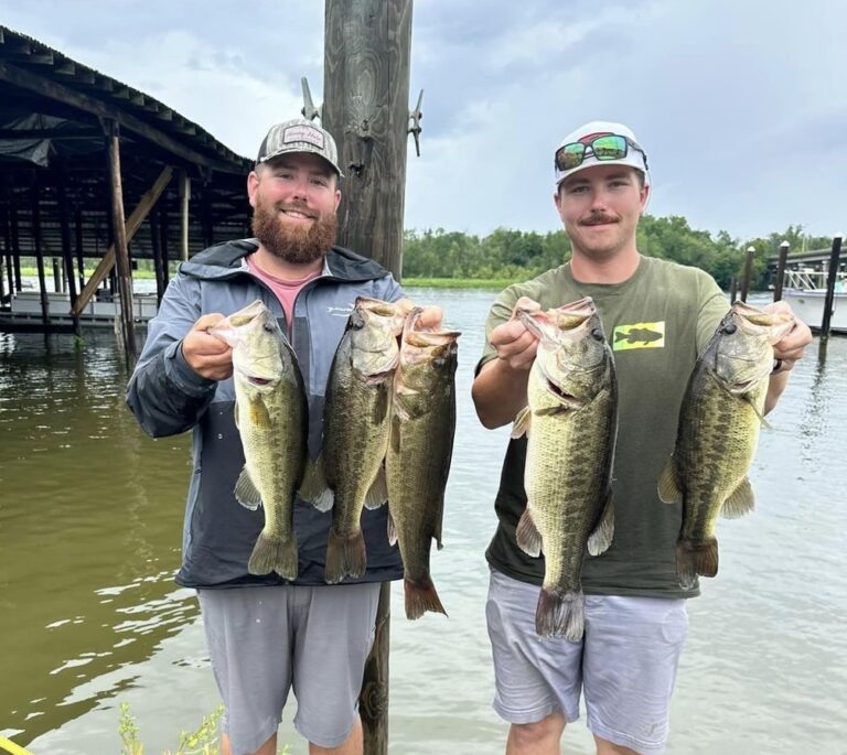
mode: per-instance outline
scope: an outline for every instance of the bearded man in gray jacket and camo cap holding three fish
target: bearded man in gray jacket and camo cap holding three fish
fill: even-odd
[[[227,241],[179,267],[150,322],[127,391],[153,436],[193,432],[193,474],[176,582],[197,590],[225,715],[224,755],[272,755],[288,692],[310,755],[357,755],[357,698],[371,650],[379,583],[403,576],[387,539],[387,507],[362,518],[367,571],[324,582],[331,513],[294,500],[298,576],[250,574],[264,517],[234,496],[244,453],[233,419],[232,349],[208,334],[260,299],[293,346],[309,401],[309,454],[321,447],[324,391],[357,296],[397,301],[388,271],[334,246],[342,172],[332,136],[309,120],[274,126],[247,179],[256,238]],[[428,308],[427,320],[440,320]]]

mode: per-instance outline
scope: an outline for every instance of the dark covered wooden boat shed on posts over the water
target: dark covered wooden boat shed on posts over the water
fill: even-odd
[[[161,299],[169,260],[249,235],[250,168],[153,97],[0,26],[0,332],[78,333],[106,293],[133,354],[135,261],[153,260]],[[11,316],[22,258],[40,283],[41,316],[25,323]]]

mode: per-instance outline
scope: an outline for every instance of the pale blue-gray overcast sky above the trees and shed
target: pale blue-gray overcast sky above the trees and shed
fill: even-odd
[[[0,24],[253,157],[323,88],[322,0],[0,0]],[[559,227],[553,153],[588,120],[650,155],[648,212],[740,241],[847,227],[847,3],[415,0],[407,228]]]

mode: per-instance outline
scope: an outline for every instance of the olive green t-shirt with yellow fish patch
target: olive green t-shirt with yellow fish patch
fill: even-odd
[[[642,257],[623,283],[581,283],[569,265],[503,291],[491,309],[486,336],[529,296],[543,309],[591,296],[612,346],[618,373],[618,443],[612,500],[614,538],[605,553],[586,554],[582,589],[605,595],[689,597],[676,576],[675,548],[680,504],[663,504],[656,481],[676,441],[679,405],[697,354],[711,337],[729,302],[708,273]],[[496,357],[486,338],[478,366]],[[515,542],[526,508],[526,439],[510,441],[494,507],[500,525],[486,551],[489,563],[516,580],[540,584],[544,557]],[[567,463],[567,460],[562,460]]]

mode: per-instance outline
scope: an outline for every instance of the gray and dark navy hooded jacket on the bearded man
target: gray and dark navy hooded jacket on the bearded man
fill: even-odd
[[[207,380],[189,367],[182,338],[202,314],[237,312],[261,299],[280,321],[282,306],[270,289],[246,268],[244,258],[258,249],[256,239],[211,247],[179,267],[150,322],[147,342],[127,388],[127,403],[153,438],[193,432],[193,474],[183,528],[182,567],[176,582],[187,587],[286,584],[277,574],[254,576],[247,561],[265,517],[234,496],[244,466],[235,427],[233,379]],[[332,358],[357,296],[395,301],[397,281],[379,265],[333,247],[324,272],[307,283],[294,302],[291,344],[297,352],[309,399],[309,452],[321,447],[323,403]],[[367,572],[361,582],[403,576],[397,547],[387,539],[387,506],[365,510],[362,529]],[[296,584],[324,584],[326,539],[332,513],[321,514],[296,499],[294,530],[299,550]],[[345,580],[345,583],[352,580]]]

